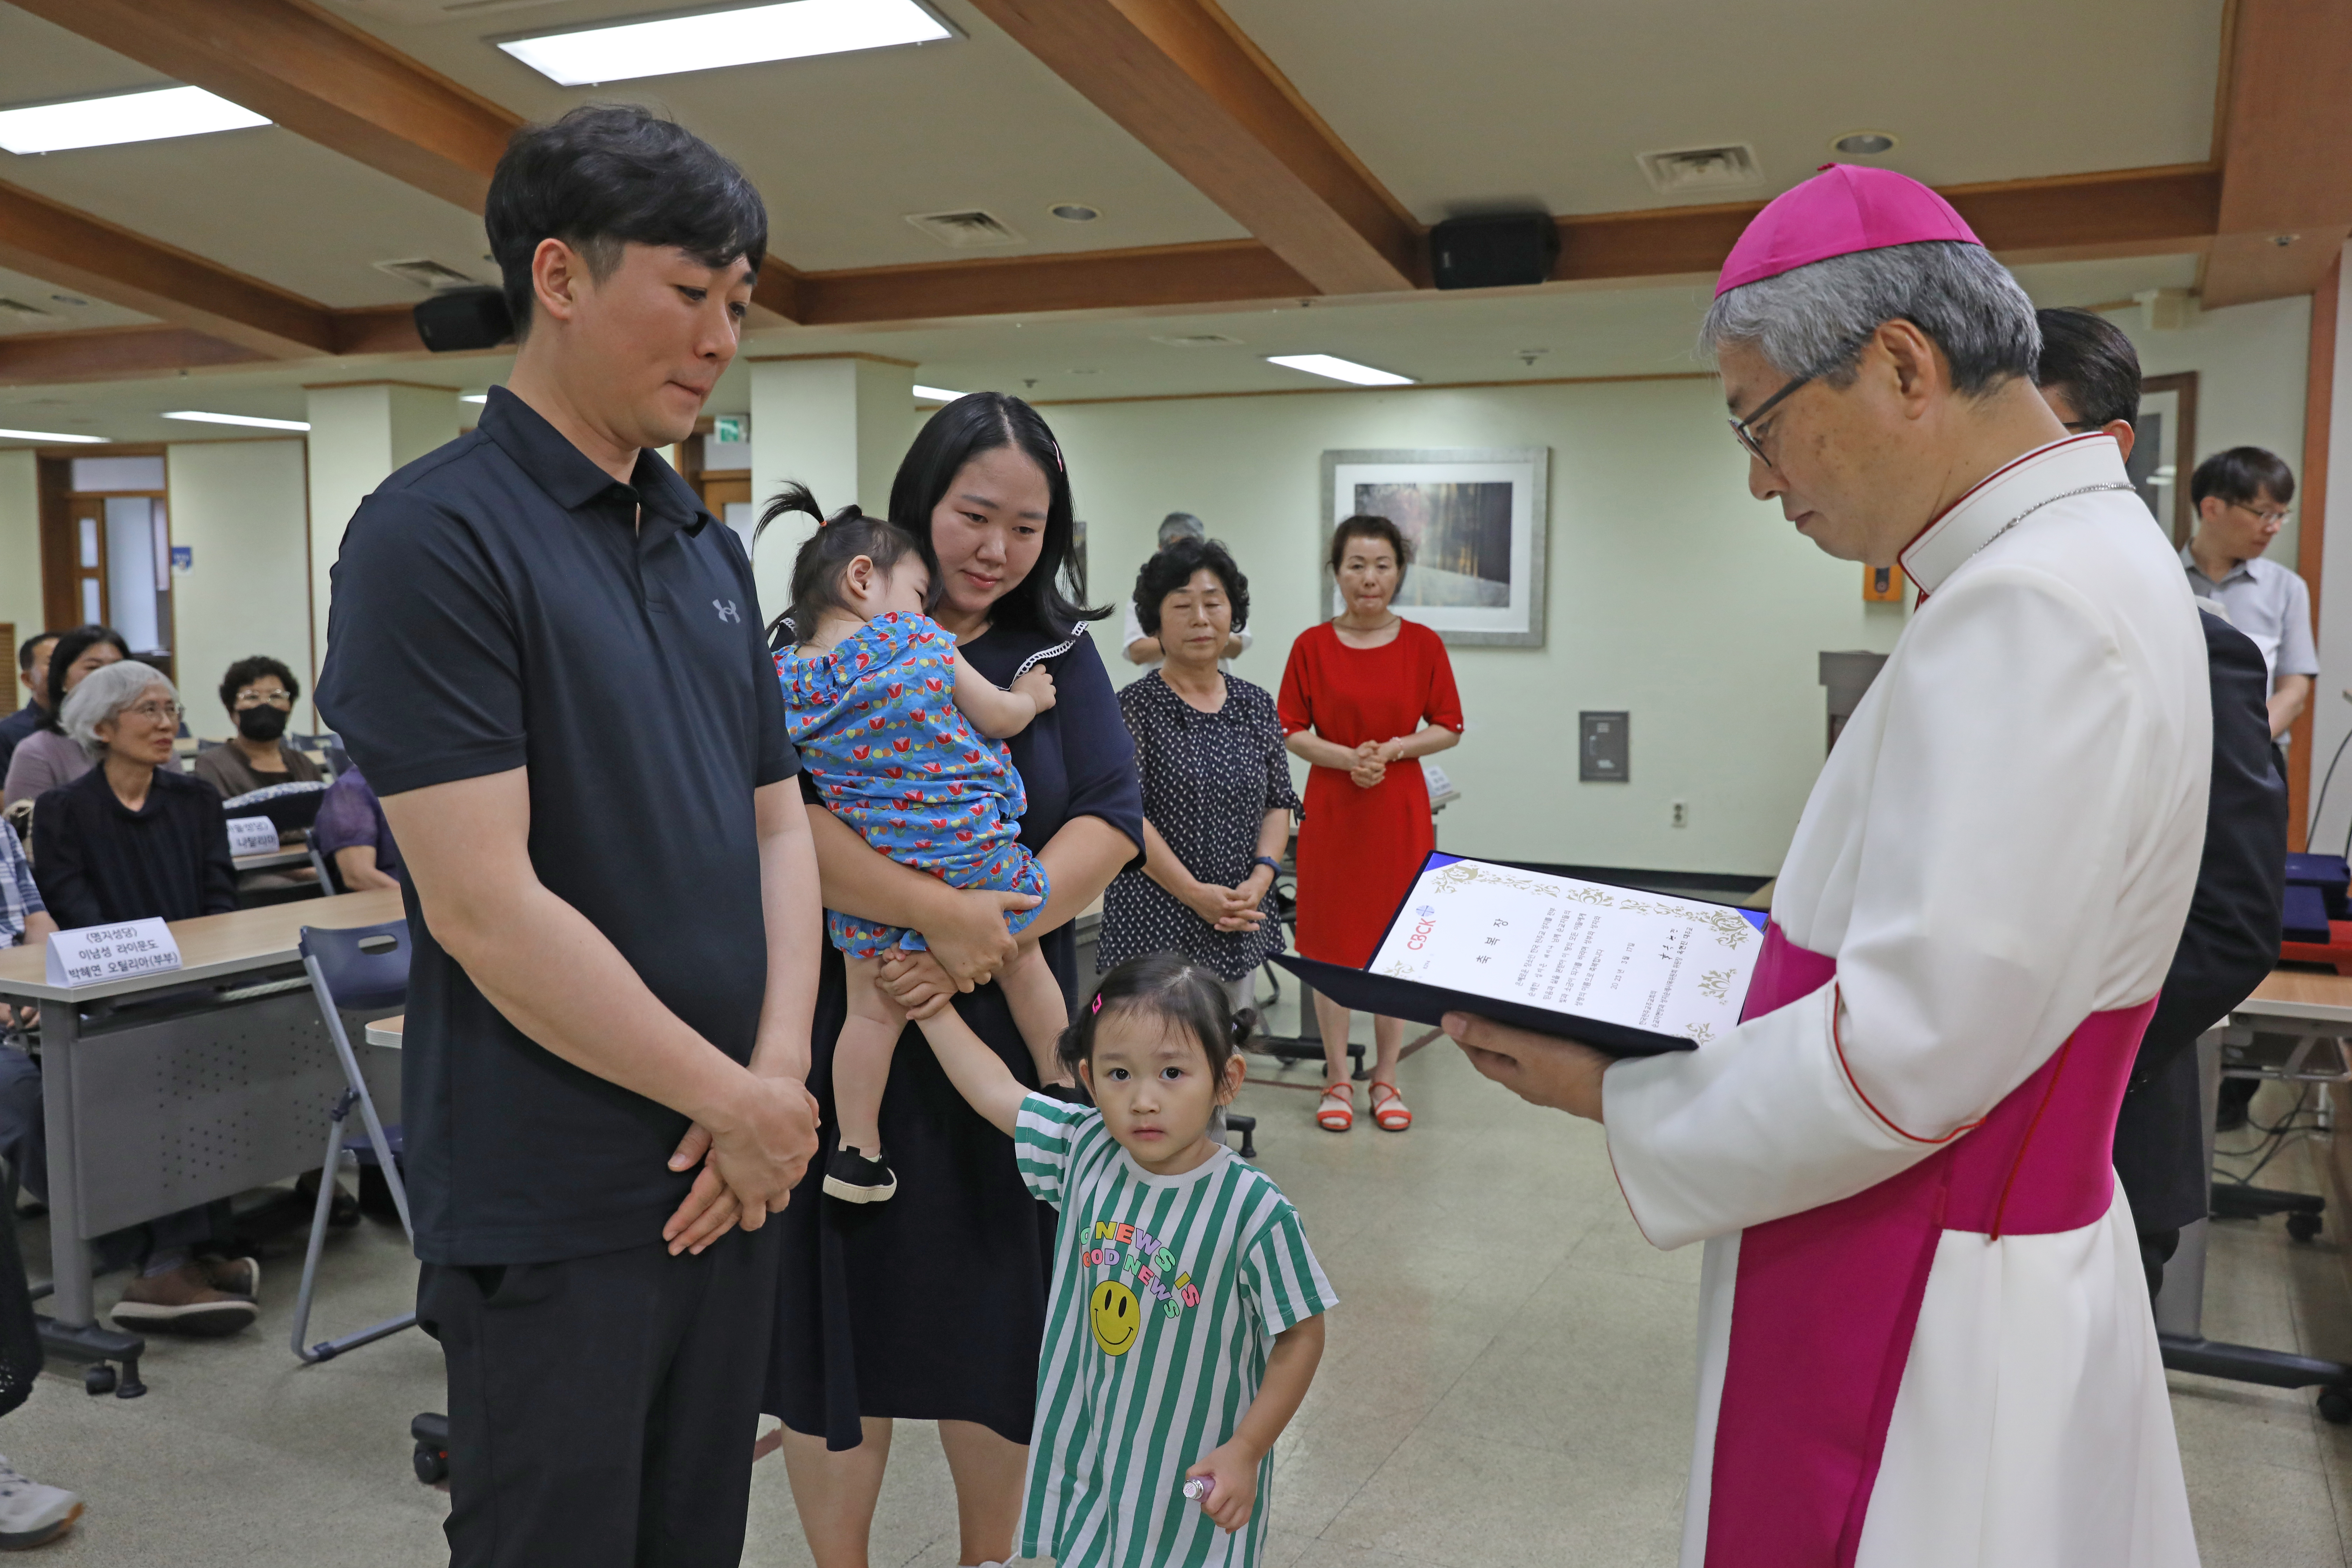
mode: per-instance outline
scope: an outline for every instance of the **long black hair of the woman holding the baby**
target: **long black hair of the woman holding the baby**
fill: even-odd
[[[898,463],[889,487],[889,520],[910,529],[931,550],[931,512],[938,510],[955,475],[983,451],[1014,447],[1037,463],[1047,482],[1044,545],[1030,574],[1004,590],[988,618],[1042,637],[1068,637],[1080,621],[1101,621],[1110,609],[1087,609],[1087,569],[1077,559],[1077,512],[1070,505],[1070,475],[1061,461],[1061,442],[1037,409],[1004,393],[964,393],[924,421],[915,444]],[[931,559],[938,559],[936,550]],[[936,576],[936,574],[934,574]]]

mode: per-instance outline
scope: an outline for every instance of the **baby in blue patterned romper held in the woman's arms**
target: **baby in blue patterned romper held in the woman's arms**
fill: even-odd
[[[816,512],[788,489],[771,508]],[[1028,792],[1004,736],[1054,705],[1054,677],[1028,670],[1011,691],[957,654],[931,621],[931,569],[906,529],[849,508],[816,529],[793,562],[790,623],[800,642],[776,654],[776,677],[802,771],[826,806],[866,842],[957,889],[1047,896],[1044,867],[1021,844]],[[1011,910],[1018,936],[1037,910]],[[833,1051],[840,1147],[826,1192],[880,1204],[898,1190],[882,1150],[882,1086],[906,1011],[880,985],[882,959],[920,950],[917,931],[826,910],[826,936],[849,969],[849,1018]],[[1054,1056],[1070,1023],[1061,983],[1023,938],[997,976],[1037,1081],[1068,1074]]]

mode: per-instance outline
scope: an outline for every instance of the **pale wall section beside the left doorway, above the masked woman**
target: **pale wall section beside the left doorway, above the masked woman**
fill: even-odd
[[[249,654],[285,661],[310,689],[310,505],[303,442],[167,449],[172,543],[195,552],[172,578],[174,663],[191,733],[223,738],[221,672]],[[296,708],[294,722],[306,722]]]

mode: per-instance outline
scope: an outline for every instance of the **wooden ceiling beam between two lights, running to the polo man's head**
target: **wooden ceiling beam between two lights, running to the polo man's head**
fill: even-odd
[[[306,0],[12,2],[468,212],[522,125]]]

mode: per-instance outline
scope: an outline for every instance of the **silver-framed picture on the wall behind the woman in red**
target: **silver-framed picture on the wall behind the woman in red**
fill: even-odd
[[[1456,646],[1541,649],[1550,458],[1550,447],[1324,451],[1315,571],[1327,614],[1341,611],[1324,569],[1331,534],[1374,512],[1414,545],[1399,616]]]

